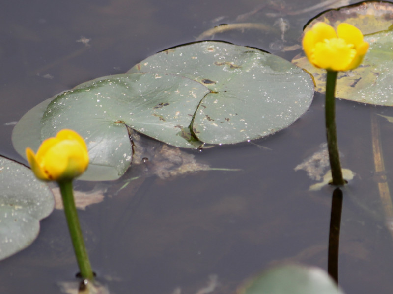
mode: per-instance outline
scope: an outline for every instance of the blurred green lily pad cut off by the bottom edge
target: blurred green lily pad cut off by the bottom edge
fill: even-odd
[[[328,274],[315,267],[287,265],[268,270],[239,294],[343,294]]]

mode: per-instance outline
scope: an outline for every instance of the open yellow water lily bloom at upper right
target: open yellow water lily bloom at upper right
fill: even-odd
[[[326,23],[316,23],[303,37],[303,49],[309,62],[329,71],[357,68],[369,44],[355,26],[342,23],[335,29]]]

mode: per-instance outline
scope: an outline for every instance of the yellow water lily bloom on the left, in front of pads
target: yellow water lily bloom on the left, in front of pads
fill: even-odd
[[[56,137],[42,142],[37,154],[26,148],[26,156],[35,176],[46,181],[73,179],[89,164],[86,143],[78,133],[69,129],[63,129]]]

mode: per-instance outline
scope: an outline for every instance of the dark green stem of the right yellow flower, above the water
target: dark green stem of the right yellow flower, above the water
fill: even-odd
[[[342,177],[340,156],[338,153],[337,133],[336,133],[336,111],[335,111],[335,88],[337,72],[327,71],[326,78],[326,100],[325,100],[325,120],[326,137],[328,139],[328,150],[330,167],[332,169],[332,184],[336,186],[344,185]]]

